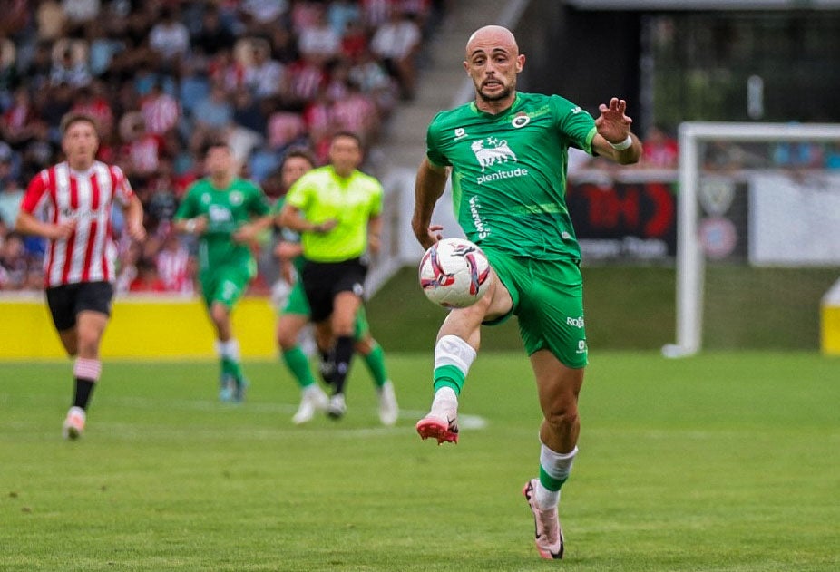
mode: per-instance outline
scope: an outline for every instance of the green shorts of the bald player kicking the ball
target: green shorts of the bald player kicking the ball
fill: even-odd
[[[571,368],[587,364],[581,268],[571,260],[512,257],[484,249],[496,275],[511,293],[513,308],[486,325],[519,318],[528,355],[547,349]]]

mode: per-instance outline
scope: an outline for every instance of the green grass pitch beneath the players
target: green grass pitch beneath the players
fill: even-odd
[[[0,569],[840,569],[837,360],[594,351],[552,563],[520,493],[540,419],[523,354],[480,355],[442,447],[414,431],[430,354],[387,358],[394,428],[358,362],[347,418],[302,428],[281,364],[247,364],[237,407],[215,364],[109,362],[78,442],[69,363],[2,364]]]

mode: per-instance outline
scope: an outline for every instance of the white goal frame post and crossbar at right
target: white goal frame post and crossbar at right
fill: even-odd
[[[697,354],[702,344],[705,259],[698,238],[698,183],[700,143],[707,141],[840,141],[840,124],[689,121],[679,125],[677,341],[662,348],[669,357]]]

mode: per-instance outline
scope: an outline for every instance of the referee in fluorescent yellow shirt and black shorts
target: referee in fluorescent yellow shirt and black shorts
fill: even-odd
[[[280,224],[301,235],[306,263],[301,281],[312,310],[312,322],[328,321],[335,375],[327,415],[347,412],[345,382],[353,357],[353,328],[363,303],[369,247],[379,249],[382,185],[357,169],[362,145],[356,133],[337,132],[329,145],[329,164],[310,170],[286,195]]]

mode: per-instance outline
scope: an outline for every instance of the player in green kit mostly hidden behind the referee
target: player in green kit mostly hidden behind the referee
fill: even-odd
[[[280,165],[283,187],[288,189],[304,173],[314,168],[315,159],[307,150],[289,150]],[[272,208],[272,214],[278,215],[284,202],[284,198],[279,199]],[[304,265],[303,249],[300,246],[298,233],[288,228],[281,228],[281,240],[278,242],[275,253],[280,259],[281,274],[288,284],[293,285],[286,303],[281,306],[277,339],[283,362],[300,386],[300,406],[292,417],[292,422],[302,424],[310,421],[317,411],[325,411],[328,398],[327,393],[324,393],[315,383],[315,378],[309,369],[308,358],[298,344],[300,332],[310,320],[309,303],[303,284],[297,279]],[[319,326],[316,339],[318,351],[321,354],[321,373],[325,381],[328,381],[331,378],[331,372],[328,371],[331,360],[327,352],[332,344],[332,332],[326,322]],[[370,334],[364,305],[358,309],[353,337],[356,341],[356,351],[362,354],[376,384],[376,392],[379,396],[379,420],[385,425],[393,425],[399,415],[394,384],[388,379],[382,347]]]

